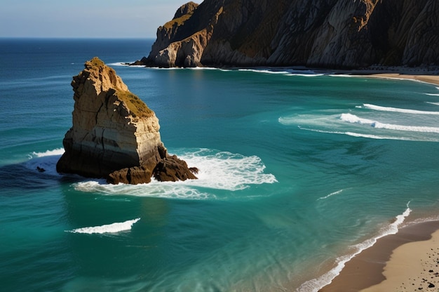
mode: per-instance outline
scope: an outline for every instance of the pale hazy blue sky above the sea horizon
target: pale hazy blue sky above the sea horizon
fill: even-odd
[[[155,38],[188,1],[0,0],[0,37]]]

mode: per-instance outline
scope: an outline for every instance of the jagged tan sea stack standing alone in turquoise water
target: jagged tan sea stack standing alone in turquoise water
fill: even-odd
[[[73,126],[62,144],[60,173],[107,178],[109,183],[149,183],[196,178],[186,162],[161,142],[156,114],[98,58],[73,77]],[[169,173],[169,175],[161,175]]]

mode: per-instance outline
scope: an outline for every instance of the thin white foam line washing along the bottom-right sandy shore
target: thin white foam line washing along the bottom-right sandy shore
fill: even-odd
[[[396,234],[399,230],[400,225],[404,223],[405,218],[407,218],[407,216],[410,215],[410,213],[412,212],[412,209],[410,209],[409,204],[410,201],[407,203],[407,208],[405,209],[404,213],[397,215],[393,223],[391,223],[391,225],[381,228],[379,234],[376,237],[372,237],[371,239],[367,239],[361,242],[360,244],[356,244],[352,246],[353,253],[342,255],[339,258],[337,258],[336,260],[337,265],[332,270],[330,270],[326,274],[323,274],[317,279],[306,281],[297,289],[297,291],[299,292],[319,291],[324,286],[330,284],[332,280],[335,277],[337,277],[337,275],[340,274],[340,272],[342,272],[344,265],[346,265],[346,263],[349,262],[349,260],[354,258],[356,255],[358,255],[365,249],[373,246],[377,242],[377,240],[380,239],[381,237],[385,237],[391,234]]]

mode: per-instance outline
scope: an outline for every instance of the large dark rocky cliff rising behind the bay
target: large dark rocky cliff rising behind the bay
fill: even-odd
[[[436,0],[204,0],[158,27],[145,65],[439,65]]]

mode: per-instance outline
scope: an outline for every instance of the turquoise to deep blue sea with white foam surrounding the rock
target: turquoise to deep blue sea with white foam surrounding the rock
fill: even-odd
[[[377,238],[438,218],[437,86],[122,65],[153,41],[0,39],[1,291],[317,291]],[[94,56],[198,180],[56,173],[70,82]]]

